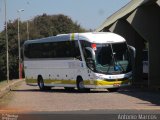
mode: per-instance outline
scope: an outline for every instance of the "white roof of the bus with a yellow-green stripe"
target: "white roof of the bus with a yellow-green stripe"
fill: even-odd
[[[47,38],[41,38],[36,40],[27,40],[24,44],[29,43],[43,43],[53,41],[72,41],[72,40],[86,40],[92,43],[118,43],[125,42],[125,39],[120,35],[111,32],[88,32],[88,33],[69,33],[59,34],[57,36],[51,36]]]

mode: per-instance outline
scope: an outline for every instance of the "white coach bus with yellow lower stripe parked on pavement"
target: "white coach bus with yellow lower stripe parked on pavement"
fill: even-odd
[[[134,48],[110,32],[70,33],[24,43],[28,85],[117,91],[132,77]]]

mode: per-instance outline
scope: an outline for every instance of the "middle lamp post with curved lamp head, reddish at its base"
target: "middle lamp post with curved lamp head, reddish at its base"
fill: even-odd
[[[20,12],[24,9],[18,10],[18,56],[19,56],[19,79],[22,79],[22,60],[21,60],[21,46],[20,46],[20,34],[19,34],[19,21],[20,21]]]

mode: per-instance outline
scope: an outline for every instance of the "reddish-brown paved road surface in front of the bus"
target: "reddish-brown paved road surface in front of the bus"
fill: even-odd
[[[0,99],[0,111],[12,112],[61,112],[70,113],[160,113],[160,94],[131,88],[123,88],[110,93],[105,89],[79,93],[53,88],[39,91],[36,86],[27,86],[23,82],[19,87]],[[134,112],[133,112],[134,111]],[[72,112],[73,113],[73,112]]]

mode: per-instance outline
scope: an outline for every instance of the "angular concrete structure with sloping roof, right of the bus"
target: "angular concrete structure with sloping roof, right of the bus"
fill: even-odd
[[[142,82],[142,51],[149,50],[148,87],[160,88],[160,0],[131,0],[111,15],[96,31],[122,35],[136,48],[134,83]]]

